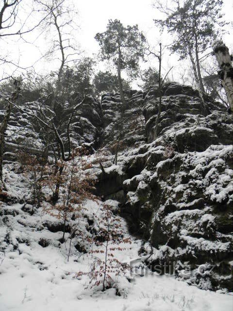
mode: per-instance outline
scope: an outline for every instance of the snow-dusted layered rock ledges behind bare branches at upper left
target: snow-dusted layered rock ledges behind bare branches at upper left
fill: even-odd
[[[77,103],[74,103],[77,104]],[[43,110],[50,115],[50,106],[43,104]],[[72,113],[73,106],[66,103],[55,108],[55,124],[58,133],[63,138],[67,150],[67,122]],[[0,110],[3,117],[4,107]],[[100,102],[92,96],[86,96],[82,106],[74,113],[70,124],[70,144],[75,148],[83,143],[93,143],[98,146],[102,128],[102,110]],[[19,151],[29,151],[33,154],[42,153],[46,143],[42,135],[41,126],[34,115],[40,116],[40,103],[31,102],[21,105],[21,110],[16,108],[10,117],[5,139],[4,160],[16,160]],[[43,120],[43,116],[40,116]],[[46,129],[44,129],[46,132]]]

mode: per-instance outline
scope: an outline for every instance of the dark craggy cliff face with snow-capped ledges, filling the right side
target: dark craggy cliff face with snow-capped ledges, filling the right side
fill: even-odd
[[[230,289],[233,117],[207,96],[209,113],[204,117],[197,91],[167,84],[155,137],[158,90],[131,90],[125,96],[128,106],[124,112],[119,94],[105,94],[101,102],[86,98],[71,124],[72,146],[93,141],[97,150],[112,150],[116,142],[121,146],[117,165],[114,155],[109,155],[103,163],[105,173],[96,169],[96,194],[102,200],[120,202],[131,232],[154,247],[150,263],[175,261],[182,269],[189,262],[188,282],[202,288],[209,284],[210,289]],[[69,107],[61,112],[64,118],[69,113]],[[26,134],[22,140],[11,134],[24,128],[24,121],[34,133],[33,121],[15,114],[7,132],[8,146],[23,143]],[[60,134],[66,140],[65,128],[61,127]],[[39,135],[32,134],[32,138],[40,141]],[[146,253],[146,248],[141,252]],[[205,285],[197,265],[206,271]]]

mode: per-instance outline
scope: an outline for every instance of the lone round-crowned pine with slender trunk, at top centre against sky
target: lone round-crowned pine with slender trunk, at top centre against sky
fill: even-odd
[[[101,59],[111,59],[117,67],[120,97],[125,107],[121,70],[125,69],[131,77],[137,75],[139,60],[144,57],[145,36],[138,30],[137,25],[124,27],[118,19],[110,19],[107,30],[98,33],[95,39],[100,44]]]

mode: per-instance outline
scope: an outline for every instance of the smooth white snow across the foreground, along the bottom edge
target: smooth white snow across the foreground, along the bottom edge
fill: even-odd
[[[227,294],[203,291],[170,276],[136,276],[124,296],[115,290],[93,293],[74,274],[87,262],[70,260],[54,247],[34,243],[21,255],[9,252],[0,267],[1,311],[230,311]]]

